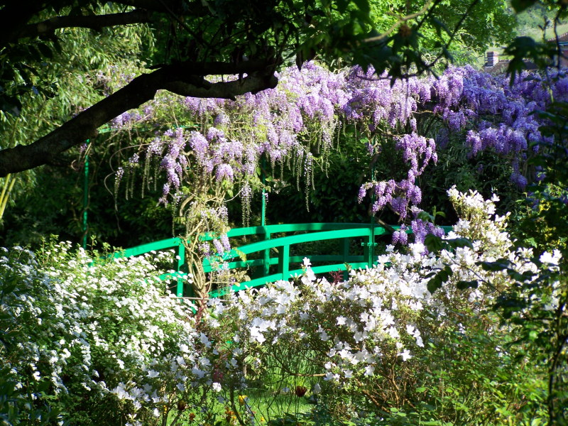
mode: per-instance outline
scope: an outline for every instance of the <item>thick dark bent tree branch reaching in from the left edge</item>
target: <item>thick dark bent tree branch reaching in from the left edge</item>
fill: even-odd
[[[38,141],[1,150],[0,177],[53,161],[63,151],[97,136],[97,129],[114,117],[153,99],[160,89],[189,97],[234,99],[239,94],[275,87],[278,80],[273,75],[273,67],[270,61],[247,61],[236,65],[185,62],[139,75]],[[203,78],[204,75],[242,73],[247,73],[247,77],[231,82],[211,83]]]

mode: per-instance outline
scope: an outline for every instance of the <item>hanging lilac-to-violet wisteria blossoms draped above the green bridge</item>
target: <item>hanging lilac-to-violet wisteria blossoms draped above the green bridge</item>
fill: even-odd
[[[422,133],[427,128],[420,126],[422,116],[433,114],[442,121],[442,130],[434,126],[443,136],[440,143],[452,134],[463,139],[472,156],[492,150],[509,158],[510,178],[523,187],[530,178],[521,172],[525,161],[531,150],[547,143],[534,111],[545,109],[551,93],[556,100],[568,99],[568,79],[562,73],[525,73],[512,85],[507,77],[469,66],[450,67],[439,78],[398,80],[392,86],[384,77],[375,75],[372,67],[331,72],[307,62],[301,70],[283,70],[275,89],[234,101],[161,94],[144,109],[117,117],[114,125],[120,128],[137,117],[157,114],[166,104],[175,109],[175,123],[185,128],[156,134],[138,153],[141,163],[153,160],[163,171],[163,202],[178,196],[183,185],[191,186],[185,180],[197,173],[213,182],[230,182],[250,199],[251,190],[259,186],[262,157],[273,168],[288,167],[310,181],[320,161],[312,153],[329,153],[337,132],[354,126],[370,141],[369,155],[381,155],[381,146],[392,143],[408,166],[401,180],[395,180],[393,170],[390,180],[366,182],[359,200],[372,194],[373,213],[390,207],[403,220],[422,200],[417,178],[437,161],[433,135]]]

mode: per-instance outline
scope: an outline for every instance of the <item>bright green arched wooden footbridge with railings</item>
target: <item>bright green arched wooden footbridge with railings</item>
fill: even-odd
[[[450,226],[442,226],[448,231]],[[373,265],[376,261],[375,248],[378,245],[377,237],[392,234],[393,229],[399,229],[400,226],[382,226],[371,224],[349,224],[349,223],[312,223],[312,224],[278,224],[264,226],[249,226],[246,228],[231,229],[227,236],[230,239],[239,237],[255,236],[260,240],[251,244],[236,247],[235,249],[225,252],[223,260],[228,263],[229,269],[254,268],[255,273],[251,280],[241,283],[235,283],[225,288],[218,288],[209,292],[210,297],[219,297],[229,292],[245,290],[246,288],[258,287],[278,280],[288,280],[295,275],[302,274],[302,268],[297,266],[302,263],[302,259],[307,257],[312,262],[312,271],[314,273],[329,273],[332,271],[343,271],[344,279],[347,278],[349,269],[366,268]],[[302,232],[302,234],[293,234]],[[407,231],[410,233],[411,231]],[[284,235],[282,234],[293,234]],[[276,236],[276,238],[274,238]],[[211,241],[217,238],[211,234],[200,236],[201,241]],[[351,254],[353,248],[351,243],[354,239],[360,242],[362,246],[362,254]],[[313,254],[305,253],[298,256],[290,256],[290,246],[295,244],[303,244],[317,241],[339,240],[340,249],[330,254]],[[362,240],[362,241],[361,241]],[[233,246],[233,244],[231,244]],[[150,251],[161,251],[167,249],[175,250],[175,260],[173,269],[175,273],[168,274],[182,278],[187,275],[187,266],[185,265],[185,246],[182,239],[170,238],[152,243],[143,244],[141,246],[126,249],[115,256],[139,256]],[[272,257],[271,251],[276,256]],[[246,260],[242,260],[244,256]],[[250,257],[250,258],[249,258]],[[324,263],[318,265],[318,263]],[[271,273],[271,266],[275,266]],[[209,273],[213,270],[213,266],[207,259],[203,261],[204,272]],[[276,272],[274,272],[274,270]],[[177,285],[171,290],[177,297],[184,297],[185,280],[178,279]]]

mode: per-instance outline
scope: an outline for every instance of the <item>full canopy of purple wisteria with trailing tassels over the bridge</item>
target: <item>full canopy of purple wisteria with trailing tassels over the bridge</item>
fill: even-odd
[[[564,99],[564,74],[555,76],[552,92]],[[172,105],[170,99],[175,115],[158,115],[159,104]],[[251,190],[261,187],[259,165],[266,160],[273,174],[269,187],[281,190],[292,183],[293,176],[299,189],[300,178],[304,178],[309,207],[314,165],[329,175],[331,151],[344,147],[345,154],[337,155],[340,161],[363,160],[371,169],[367,173],[372,180],[361,186],[359,200],[369,194],[373,214],[388,207],[395,214],[394,221],[404,220],[409,207],[421,202],[417,183],[437,161],[437,151],[444,153],[448,133],[454,135],[454,151],[448,149],[445,154],[439,171],[445,180],[438,185],[451,183],[448,178],[456,168],[449,161],[454,161],[457,151],[458,161],[471,163],[475,170],[462,185],[484,187],[486,192],[499,185],[512,192],[509,200],[518,197],[514,187],[500,182],[499,172],[510,173],[520,190],[535,179],[528,163],[532,155],[528,144],[544,139],[538,130],[542,119],[532,111],[549,103],[546,79],[536,74],[525,74],[509,87],[506,77],[491,77],[471,67],[452,68],[437,80],[411,78],[390,87],[385,80],[373,78],[372,70],[365,73],[355,67],[329,72],[308,62],[301,71],[285,70],[278,88],[263,94],[237,101],[158,98],[156,106],[118,117],[115,127],[123,133],[155,119],[166,126],[175,120],[178,128],[163,136],[146,136],[147,142],[135,147],[138,152],[119,168],[117,178],[121,179],[124,170],[131,171],[141,174],[146,187],[155,186],[151,170],[158,168],[167,178],[162,202],[185,199],[184,180],[192,182],[187,187],[199,187],[200,179],[209,187],[231,187],[229,196],[236,193],[236,184],[247,212]],[[437,144],[429,137],[435,135]],[[365,141],[368,155],[362,149]],[[497,163],[497,172],[493,164],[484,164],[484,158]],[[291,176],[285,175],[285,168],[291,169]]]

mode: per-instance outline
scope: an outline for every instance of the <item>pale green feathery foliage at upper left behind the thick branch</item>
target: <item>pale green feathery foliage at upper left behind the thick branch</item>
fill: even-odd
[[[112,13],[118,9],[106,5],[102,11]],[[110,65],[121,67],[125,62],[138,63],[141,46],[151,47],[149,35],[145,27],[136,30],[123,27],[113,33],[69,28],[58,35],[58,43],[38,40],[43,46],[40,52],[28,46],[33,55],[23,55],[23,62],[16,64],[7,59],[10,51],[2,50],[0,74],[4,71],[3,77],[8,79],[6,75],[13,72],[14,77],[13,81],[1,84],[0,93],[18,104],[18,114],[9,113],[7,107],[0,111],[0,148],[13,148],[40,138],[60,122],[99,101],[101,91],[93,84],[97,70]],[[46,171],[52,172],[54,178],[58,168],[71,168],[76,173],[73,160],[74,155],[63,156],[51,162]],[[40,185],[36,173],[30,170],[0,178],[0,219],[7,206],[13,206],[18,197]],[[49,235],[49,230],[44,235]]]

